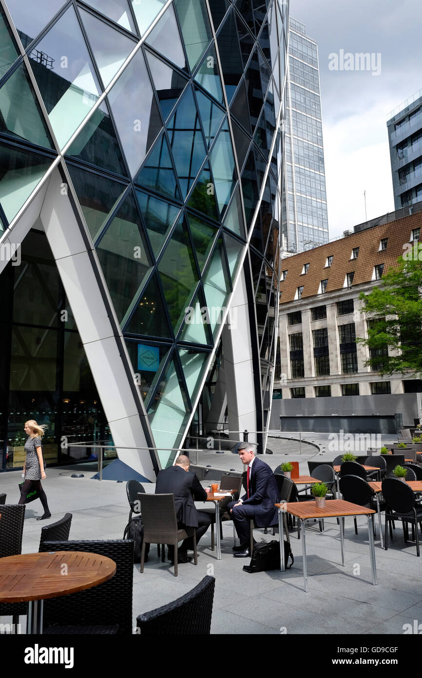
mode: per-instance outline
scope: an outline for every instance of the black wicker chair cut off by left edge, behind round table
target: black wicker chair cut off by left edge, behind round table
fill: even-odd
[[[4,495],[5,496],[5,495]],[[0,558],[22,553],[25,504],[3,504],[0,519]],[[26,614],[27,603],[0,603],[0,617],[13,616],[19,623],[19,615]]]

